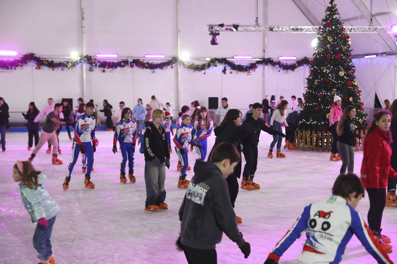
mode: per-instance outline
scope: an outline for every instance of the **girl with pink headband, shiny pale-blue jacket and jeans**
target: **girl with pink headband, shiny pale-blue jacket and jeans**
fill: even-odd
[[[51,232],[60,209],[45,189],[47,177],[36,171],[29,161],[17,160],[12,178],[19,182],[19,196],[32,222],[38,222],[33,235],[33,247],[42,264],[55,264],[52,257]]]

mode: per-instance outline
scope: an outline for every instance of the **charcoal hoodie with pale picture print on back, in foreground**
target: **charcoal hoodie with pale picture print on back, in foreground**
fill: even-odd
[[[215,249],[225,232],[239,247],[243,234],[237,228],[227,182],[211,162],[196,160],[193,176],[179,209],[181,243],[196,249]]]

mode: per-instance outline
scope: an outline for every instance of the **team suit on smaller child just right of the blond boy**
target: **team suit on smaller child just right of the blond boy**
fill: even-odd
[[[186,174],[187,165],[189,165],[187,160],[187,146],[189,146],[189,143],[193,146],[198,146],[198,144],[193,141],[190,128],[183,123],[175,132],[173,142],[175,143],[175,151],[181,161],[180,176],[183,176]],[[183,154],[181,154],[181,148],[183,148]]]

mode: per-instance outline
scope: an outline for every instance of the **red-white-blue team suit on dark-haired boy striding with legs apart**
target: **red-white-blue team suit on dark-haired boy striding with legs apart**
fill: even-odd
[[[95,123],[95,118],[93,116],[87,116],[87,114],[81,115],[75,122],[75,142],[73,142],[72,160],[69,163],[67,177],[70,177],[80,153],[80,148],[77,145],[83,145],[85,148],[85,154],[87,155],[87,175],[91,175],[94,164],[94,149],[91,142],[96,143]]]

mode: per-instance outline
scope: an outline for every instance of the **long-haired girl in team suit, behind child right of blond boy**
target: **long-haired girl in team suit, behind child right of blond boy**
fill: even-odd
[[[193,140],[202,148],[196,147],[196,152],[199,160],[205,160],[207,156],[207,137],[212,133],[213,122],[210,119],[207,108],[204,106],[200,108],[199,116],[194,123],[192,129]]]

